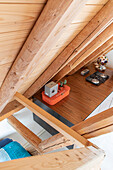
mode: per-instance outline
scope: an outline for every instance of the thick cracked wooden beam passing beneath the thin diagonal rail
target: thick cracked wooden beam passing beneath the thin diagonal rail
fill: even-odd
[[[89,139],[113,131],[113,108],[103,111],[72,127],[74,131]],[[65,138],[62,134],[57,134],[42,141],[39,148],[43,152],[50,152],[74,143]]]

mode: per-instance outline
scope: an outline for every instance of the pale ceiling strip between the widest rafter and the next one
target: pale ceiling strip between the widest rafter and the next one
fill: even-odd
[[[97,2],[97,3],[96,3]],[[24,84],[19,89],[20,93],[24,93],[28,87],[43,73],[43,71],[51,64],[51,62],[60,54],[60,52],[72,41],[84,26],[94,17],[94,15],[103,7],[104,2],[97,0],[88,0],[80,14],[66,26],[62,36],[54,43],[51,50],[42,57],[40,67],[37,67]],[[76,11],[75,11],[76,12]]]

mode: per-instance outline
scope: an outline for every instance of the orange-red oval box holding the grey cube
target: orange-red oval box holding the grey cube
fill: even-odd
[[[59,84],[58,84],[59,85]],[[52,97],[48,97],[45,95],[44,91],[42,92],[42,100],[48,103],[49,105],[55,105],[58,103],[60,100],[65,98],[66,96],[69,95],[70,92],[70,87],[67,85],[64,85],[63,87],[58,88],[58,93]]]

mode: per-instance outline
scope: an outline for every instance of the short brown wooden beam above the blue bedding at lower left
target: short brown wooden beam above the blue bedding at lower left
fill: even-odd
[[[38,147],[39,143],[41,142],[41,139],[38,136],[36,136],[27,127],[25,127],[14,116],[10,116],[8,118],[8,122],[41,154],[41,150]]]

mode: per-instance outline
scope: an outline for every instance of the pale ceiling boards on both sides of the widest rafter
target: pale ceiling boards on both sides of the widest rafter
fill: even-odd
[[[108,0],[87,0],[80,14],[66,26],[62,36],[45,53],[38,66],[19,92],[24,93],[40,74],[50,65],[63,48],[95,16]],[[46,0],[0,0],[0,86],[13,61],[24,44],[35,21],[45,6]],[[75,11],[76,12],[76,11]]]

